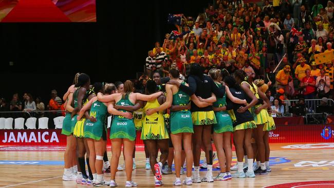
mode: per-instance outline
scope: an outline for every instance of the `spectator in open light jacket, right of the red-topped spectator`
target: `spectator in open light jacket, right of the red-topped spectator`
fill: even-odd
[[[325,75],[325,69],[320,70],[320,76],[316,80],[316,87],[318,91],[318,98],[329,97],[330,79]]]

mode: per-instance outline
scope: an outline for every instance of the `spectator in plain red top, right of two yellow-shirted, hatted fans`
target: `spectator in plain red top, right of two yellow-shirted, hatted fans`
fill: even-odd
[[[316,96],[316,80],[311,77],[311,70],[305,70],[306,76],[301,80],[301,88],[303,88],[303,95],[305,99],[314,99]],[[313,108],[312,108],[313,109]]]

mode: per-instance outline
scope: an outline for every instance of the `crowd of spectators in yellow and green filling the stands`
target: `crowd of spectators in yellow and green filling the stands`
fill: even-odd
[[[187,78],[191,64],[198,63],[206,73],[211,68],[230,73],[242,69],[254,80],[265,80],[270,86],[267,96],[279,115],[284,113],[279,107],[283,100],[333,98],[334,59],[321,64],[314,55],[334,53],[334,4],[317,0],[259,4],[217,0],[196,19],[173,15],[181,22],[165,35],[162,45],[156,42],[148,52],[145,73],[137,81],[139,92],[147,79],[166,77],[172,67]]]

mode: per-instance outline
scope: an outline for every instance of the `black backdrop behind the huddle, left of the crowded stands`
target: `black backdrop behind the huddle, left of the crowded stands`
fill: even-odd
[[[136,79],[147,51],[176,30],[168,14],[196,18],[212,1],[119,3],[97,1],[97,23],[0,23],[0,98],[29,92],[47,103],[52,89],[62,97],[76,72],[91,83]]]

